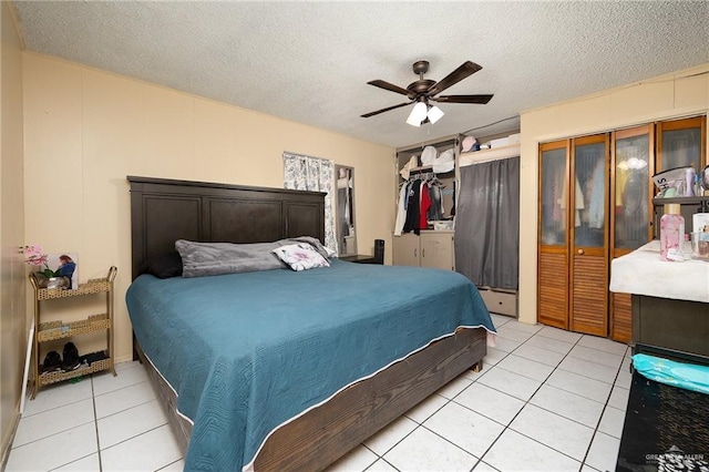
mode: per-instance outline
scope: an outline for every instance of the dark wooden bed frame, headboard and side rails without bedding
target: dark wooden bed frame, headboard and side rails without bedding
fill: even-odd
[[[175,239],[263,243],[325,238],[325,194],[129,176],[133,278],[145,260],[174,250]],[[176,396],[145,361],[183,448],[192,424]],[[323,470],[463,371],[482,368],[483,328],[460,329],[405,360],[352,384],[327,403],[276,430],[254,462],[260,470]]]

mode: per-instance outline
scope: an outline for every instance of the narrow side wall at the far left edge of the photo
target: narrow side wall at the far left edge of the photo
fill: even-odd
[[[10,4],[0,4],[0,464],[19,420],[27,349],[28,285],[18,249],[24,239],[22,45]],[[2,465],[0,465],[2,468]]]

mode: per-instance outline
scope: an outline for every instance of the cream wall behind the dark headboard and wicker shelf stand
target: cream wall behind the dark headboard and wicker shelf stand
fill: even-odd
[[[27,240],[78,253],[81,281],[117,266],[117,361],[131,358],[126,175],[282,187],[284,151],[330,158],[354,168],[360,253],[391,247],[393,148],[29,52],[23,79]]]

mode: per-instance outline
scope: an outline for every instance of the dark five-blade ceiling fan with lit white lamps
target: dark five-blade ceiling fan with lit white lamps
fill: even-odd
[[[444,79],[435,82],[430,79],[423,79],[423,74],[429,71],[429,61],[417,61],[413,63],[413,73],[419,75],[419,80],[415,82],[411,82],[405,89],[402,89],[389,82],[384,82],[383,80],[373,80],[367,82],[369,85],[374,85],[380,89],[389,90],[390,92],[405,95],[409,101],[405,103],[400,103],[398,105],[377,110],[376,112],[366,113],[362,115],[362,117],[374,116],[390,110],[415,103],[413,110],[411,110],[411,113],[407,119],[407,123],[413,126],[420,126],[423,123],[435,123],[441,119],[441,116],[443,116],[443,112],[441,111],[441,109],[431,105],[429,101],[440,103],[485,104],[490,102],[493,95],[439,95],[439,93],[443,92],[449,86],[456,84],[458,82],[474,74],[481,69],[482,66],[477,65],[476,63],[465,61],[461,66],[448,74]]]

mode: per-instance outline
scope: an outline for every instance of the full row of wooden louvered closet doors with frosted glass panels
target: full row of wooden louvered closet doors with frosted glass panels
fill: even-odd
[[[630,295],[608,291],[610,260],[653,239],[651,176],[703,168],[705,142],[699,116],[540,144],[540,322],[630,340]]]

